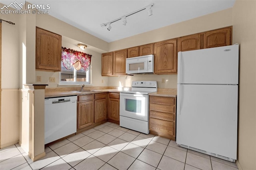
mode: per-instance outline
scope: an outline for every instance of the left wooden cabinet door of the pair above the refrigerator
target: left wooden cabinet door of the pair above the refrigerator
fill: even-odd
[[[200,49],[200,34],[193,34],[178,38],[178,52]]]

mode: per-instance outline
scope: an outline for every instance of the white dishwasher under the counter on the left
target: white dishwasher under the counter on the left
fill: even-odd
[[[44,99],[44,144],[76,132],[77,96]]]

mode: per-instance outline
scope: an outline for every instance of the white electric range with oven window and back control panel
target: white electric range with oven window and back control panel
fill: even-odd
[[[148,94],[156,91],[156,81],[132,81],[130,91],[121,91],[120,126],[149,134]]]

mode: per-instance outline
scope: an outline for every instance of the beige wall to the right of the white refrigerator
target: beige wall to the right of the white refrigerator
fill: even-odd
[[[236,0],[233,42],[240,44],[238,162],[256,169],[256,1]]]

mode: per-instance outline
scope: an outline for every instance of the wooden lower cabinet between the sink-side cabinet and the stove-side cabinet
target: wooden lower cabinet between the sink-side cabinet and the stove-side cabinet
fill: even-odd
[[[95,94],[94,101],[94,122],[107,119],[107,93]]]

